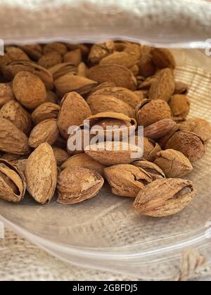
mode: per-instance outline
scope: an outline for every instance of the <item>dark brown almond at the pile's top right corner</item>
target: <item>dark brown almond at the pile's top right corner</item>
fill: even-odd
[[[159,69],[164,69],[165,67],[174,69],[174,67],[176,67],[174,56],[167,48],[153,48],[151,50],[151,55],[153,58],[153,63]]]

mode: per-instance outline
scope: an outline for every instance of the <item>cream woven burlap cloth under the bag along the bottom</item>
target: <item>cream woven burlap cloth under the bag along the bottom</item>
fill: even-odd
[[[211,266],[194,273],[192,280],[211,280],[210,275]],[[156,280],[156,278],[154,279]],[[0,281],[11,280],[134,281],[141,280],[141,277],[129,277],[101,270],[90,270],[63,263],[6,228],[5,239],[0,239]]]

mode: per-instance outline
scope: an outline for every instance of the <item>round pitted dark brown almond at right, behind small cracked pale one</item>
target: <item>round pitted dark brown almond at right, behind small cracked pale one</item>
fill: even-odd
[[[191,162],[196,162],[205,155],[203,140],[197,134],[189,131],[174,133],[168,141],[166,149],[179,150]]]

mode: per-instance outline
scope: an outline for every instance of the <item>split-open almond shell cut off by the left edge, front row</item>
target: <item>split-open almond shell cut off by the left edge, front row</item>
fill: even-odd
[[[25,196],[26,181],[23,173],[13,164],[0,159],[0,199],[20,202]]]

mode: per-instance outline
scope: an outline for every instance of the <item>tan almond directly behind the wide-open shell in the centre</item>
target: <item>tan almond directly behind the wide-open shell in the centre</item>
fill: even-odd
[[[92,114],[99,112],[117,112],[126,114],[128,117],[134,117],[134,109],[124,101],[115,98],[115,96],[104,96],[103,94],[90,96],[87,103]]]

